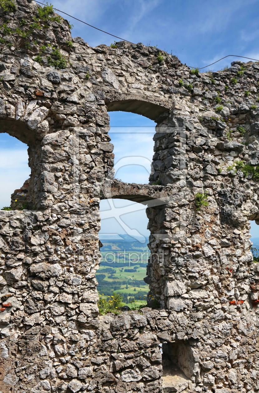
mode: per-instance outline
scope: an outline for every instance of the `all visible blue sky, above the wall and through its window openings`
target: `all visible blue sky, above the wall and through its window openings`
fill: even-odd
[[[53,0],[51,4],[123,39],[157,45],[193,67],[206,66],[229,54],[259,59],[259,0]],[[110,45],[119,40],[63,16],[74,25],[72,36],[82,37],[91,46]],[[224,59],[209,68],[217,71],[235,59]],[[110,112],[110,116],[115,163],[127,156],[151,160],[153,121],[125,112]],[[10,194],[28,175],[27,146],[0,134],[1,206],[9,206]],[[126,182],[146,183],[148,171],[140,165],[126,165],[115,177]],[[114,204],[121,208],[131,202],[115,200]],[[100,208],[105,211],[111,207],[103,201]],[[121,219],[140,235],[148,235],[144,209],[126,213]],[[258,226],[254,226],[252,236],[259,237]],[[101,232],[125,233],[114,218],[103,220]]]

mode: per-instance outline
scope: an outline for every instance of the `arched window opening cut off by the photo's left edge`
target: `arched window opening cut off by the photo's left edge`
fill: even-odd
[[[28,146],[7,133],[0,134],[0,208],[26,209],[26,193],[31,169]],[[11,200],[11,195],[12,201]]]

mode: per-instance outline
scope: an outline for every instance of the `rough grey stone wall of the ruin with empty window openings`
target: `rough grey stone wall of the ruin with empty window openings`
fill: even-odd
[[[37,15],[34,2],[15,4],[0,10],[10,28]],[[47,44],[66,69],[49,66]],[[258,391],[248,220],[259,220],[259,65],[192,75],[157,48],[117,46],[71,39],[65,20],[48,22],[27,50],[0,44],[1,132],[28,144],[31,167],[13,211],[0,212],[0,389]],[[157,121],[149,185],[113,180],[109,110]],[[198,192],[208,194],[200,210]],[[150,308],[119,316],[97,307],[107,197],[147,204],[150,219]]]

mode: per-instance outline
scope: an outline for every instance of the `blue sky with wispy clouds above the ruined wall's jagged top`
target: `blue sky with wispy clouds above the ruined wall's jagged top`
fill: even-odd
[[[157,45],[193,67],[230,54],[259,59],[258,0],[53,0],[51,4],[123,39]],[[79,35],[91,46],[119,41],[62,16],[74,25],[72,36]],[[217,71],[234,59],[210,68]]]

